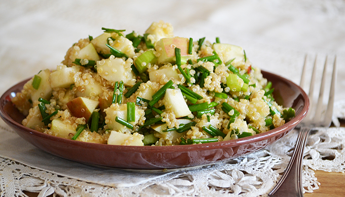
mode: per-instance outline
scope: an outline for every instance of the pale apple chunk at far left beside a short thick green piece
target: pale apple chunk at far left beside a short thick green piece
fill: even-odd
[[[41,71],[39,74],[37,74],[39,77],[41,77],[41,83],[39,88],[33,89],[31,91],[31,101],[38,101],[40,97],[49,100],[50,95],[52,94],[53,89],[50,86],[49,82],[49,76],[50,76],[50,70],[46,69]]]

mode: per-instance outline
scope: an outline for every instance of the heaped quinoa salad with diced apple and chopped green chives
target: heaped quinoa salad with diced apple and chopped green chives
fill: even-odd
[[[175,37],[164,21],[144,34],[102,30],[16,94],[24,126],[83,142],[170,146],[249,137],[295,116],[239,46]]]

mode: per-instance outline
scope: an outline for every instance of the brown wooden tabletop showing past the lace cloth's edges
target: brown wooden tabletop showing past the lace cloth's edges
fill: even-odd
[[[342,120],[341,126],[345,126]],[[315,177],[320,182],[319,189],[313,193],[304,193],[304,197],[343,197],[345,196],[345,173],[329,173],[315,171]],[[36,197],[38,193],[24,191],[30,197]],[[53,196],[53,195],[50,195]]]

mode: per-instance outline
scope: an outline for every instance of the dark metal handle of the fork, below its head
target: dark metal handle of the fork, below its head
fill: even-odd
[[[298,133],[295,150],[290,162],[278,184],[268,193],[270,197],[303,196],[302,161],[303,150],[310,133],[310,128],[301,127]]]

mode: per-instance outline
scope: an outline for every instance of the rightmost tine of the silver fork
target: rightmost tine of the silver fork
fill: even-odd
[[[329,92],[327,111],[325,114],[325,124],[323,126],[329,126],[332,122],[333,105],[334,105],[334,93],[335,93],[335,82],[336,82],[336,55],[333,62],[332,82],[331,89]]]

